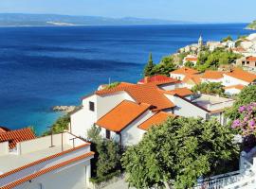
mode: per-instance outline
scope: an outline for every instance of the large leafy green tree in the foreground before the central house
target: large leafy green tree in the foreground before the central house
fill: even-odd
[[[238,157],[239,147],[232,141],[231,129],[216,120],[170,118],[129,147],[121,161],[128,182],[136,188],[191,188],[201,176],[238,165],[233,158]]]

